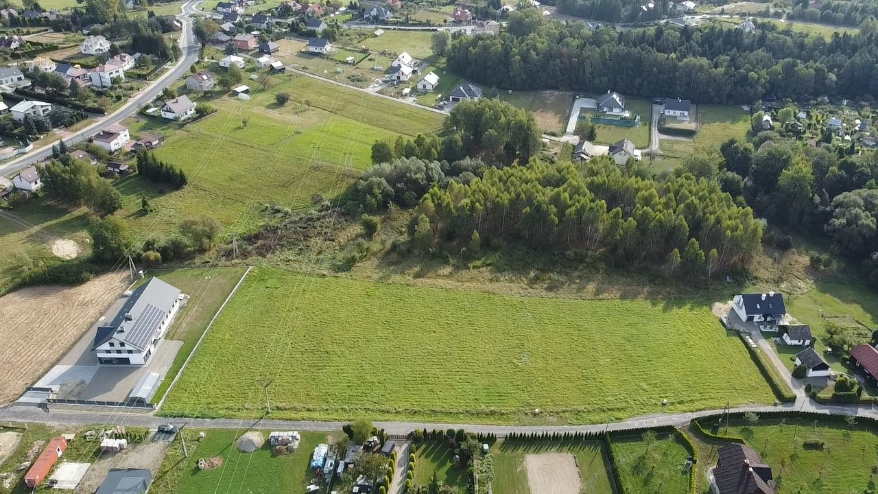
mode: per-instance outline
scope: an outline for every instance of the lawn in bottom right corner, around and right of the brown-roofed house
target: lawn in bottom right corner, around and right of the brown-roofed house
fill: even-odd
[[[725,428],[719,433],[725,434]],[[744,438],[759,452],[780,479],[778,494],[866,492],[878,482],[872,470],[878,437],[862,425],[795,418],[783,423],[762,419],[754,426],[732,421],[728,434]],[[806,440],[822,440],[824,449],[805,448]]]

